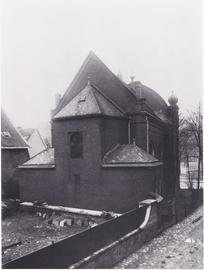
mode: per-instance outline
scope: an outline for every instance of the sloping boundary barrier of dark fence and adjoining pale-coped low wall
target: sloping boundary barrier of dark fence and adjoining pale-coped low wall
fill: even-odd
[[[155,201],[143,204],[140,208],[8,262],[3,268],[76,268],[76,263],[79,263],[78,268],[111,266],[156,234],[157,207]]]

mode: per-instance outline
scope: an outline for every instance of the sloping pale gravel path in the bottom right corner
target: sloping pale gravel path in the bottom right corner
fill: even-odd
[[[203,207],[164,231],[115,268],[203,269]]]

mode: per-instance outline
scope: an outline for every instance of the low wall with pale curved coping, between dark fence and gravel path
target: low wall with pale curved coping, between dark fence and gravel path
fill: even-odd
[[[150,210],[149,216],[148,210]],[[147,208],[146,219],[138,229],[126,234],[110,245],[97,250],[69,268],[97,269],[114,267],[115,264],[135,252],[157,234],[158,215],[156,203],[151,204],[149,209]]]

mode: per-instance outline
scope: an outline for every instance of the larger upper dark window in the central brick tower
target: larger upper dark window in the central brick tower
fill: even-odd
[[[70,156],[71,158],[83,157],[83,137],[82,132],[70,133]]]

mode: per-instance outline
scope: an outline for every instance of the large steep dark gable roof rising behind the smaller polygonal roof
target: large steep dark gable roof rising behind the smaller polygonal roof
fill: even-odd
[[[134,112],[136,101],[134,94],[131,93],[128,86],[118,79],[93,52],[90,52],[58,104],[55,111],[56,113],[62,110],[62,108],[86,87],[88,77],[90,77],[93,85],[120,106],[124,112]]]

